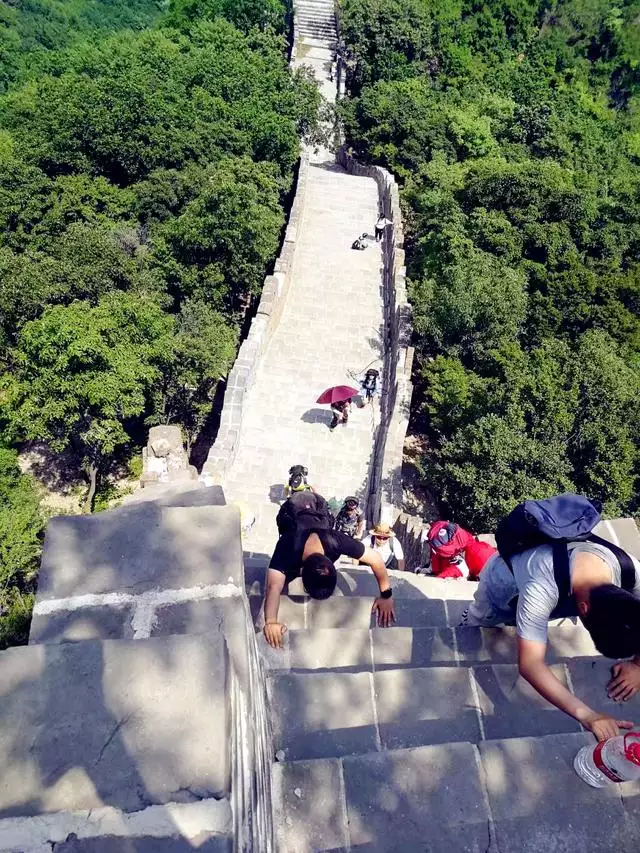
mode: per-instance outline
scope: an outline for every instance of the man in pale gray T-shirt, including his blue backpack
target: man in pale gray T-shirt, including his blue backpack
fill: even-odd
[[[499,554],[480,575],[462,625],[515,625],[518,669],[548,702],[600,741],[631,728],[574,696],[545,662],[549,619],[579,616],[598,651],[614,664],[611,699],[640,690],[640,562],[592,533],[599,507],[565,494],[526,501],[496,530]]]

